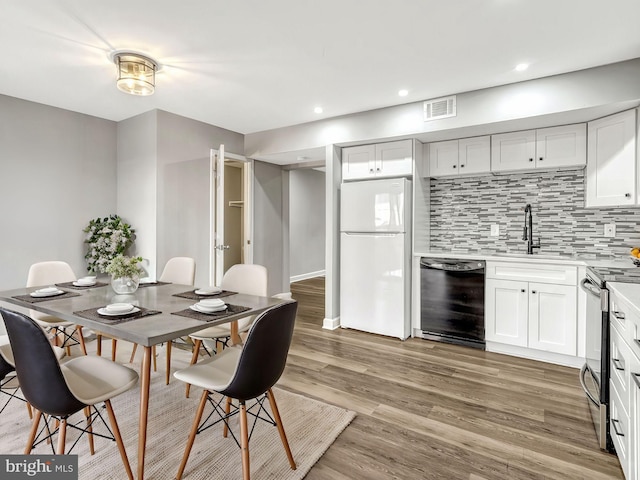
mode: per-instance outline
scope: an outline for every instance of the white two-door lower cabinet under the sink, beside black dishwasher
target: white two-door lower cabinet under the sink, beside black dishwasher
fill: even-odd
[[[487,341],[575,356],[577,303],[576,267],[487,263]]]

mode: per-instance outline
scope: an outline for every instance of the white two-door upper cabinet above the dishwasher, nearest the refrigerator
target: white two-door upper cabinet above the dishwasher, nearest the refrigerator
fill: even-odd
[[[490,173],[490,171],[491,139],[489,136],[429,144],[429,175],[431,177]]]

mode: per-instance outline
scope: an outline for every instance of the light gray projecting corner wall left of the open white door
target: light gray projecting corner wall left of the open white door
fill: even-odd
[[[118,213],[136,228],[152,277],[174,256],[209,284],[209,152],[242,153],[243,135],[156,110],[118,125]]]

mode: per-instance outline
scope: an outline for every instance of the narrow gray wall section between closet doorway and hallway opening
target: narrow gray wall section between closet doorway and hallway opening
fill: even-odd
[[[269,272],[269,295],[289,291],[287,172],[264,162],[253,166],[253,263]]]

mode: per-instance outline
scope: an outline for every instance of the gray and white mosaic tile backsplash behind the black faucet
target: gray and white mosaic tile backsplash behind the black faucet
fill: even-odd
[[[524,207],[533,208],[540,254],[628,256],[640,246],[640,208],[585,208],[585,171],[432,178],[431,249],[526,253]],[[615,223],[616,235],[604,237]],[[499,225],[497,237],[489,235]]]

